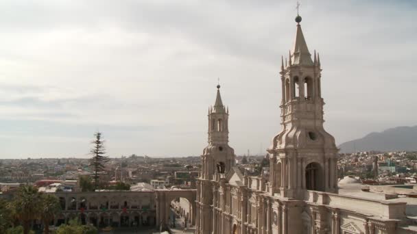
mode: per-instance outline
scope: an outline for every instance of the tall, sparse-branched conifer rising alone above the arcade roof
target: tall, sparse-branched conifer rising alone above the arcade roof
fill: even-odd
[[[104,148],[104,140],[102,140],[102,133],[97,131],[95,135],[95,140],[91,142],[93,148],[90,153],[93,155],[91,159],[91,166],[94,170],[94,189],[97,190],[99,185],[99,172],[104,171],[104,164],[108,161],[108,157],[105,156],[106,149]]]

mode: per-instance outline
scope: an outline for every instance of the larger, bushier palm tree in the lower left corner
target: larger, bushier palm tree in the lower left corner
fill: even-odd
[[[10,206],[14,216],[22,222],[23,233],[29,233],[29,226],[32,220],[39,218],[41,210],[40,193],[32,185],[22,185],[15,194]]]

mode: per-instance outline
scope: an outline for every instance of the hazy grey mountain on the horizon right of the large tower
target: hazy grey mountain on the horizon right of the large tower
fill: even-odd
[[[417,126],[394,127],[339,145],[340,153],[356,151],[417,151]]]

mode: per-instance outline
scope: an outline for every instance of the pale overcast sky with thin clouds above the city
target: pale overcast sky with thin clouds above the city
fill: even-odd
[[[200,155],[217,77],[230,146],[280,131],[296,1],[0,1],[0,158]],[[417,125],[417,1],[301,1],[337,144]]]

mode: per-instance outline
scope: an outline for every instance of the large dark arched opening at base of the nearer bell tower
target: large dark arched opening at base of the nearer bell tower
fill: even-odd
[[[307,190],[324,191],[323,168],[318,162],[311,162],[305,167],[305,185]]]

